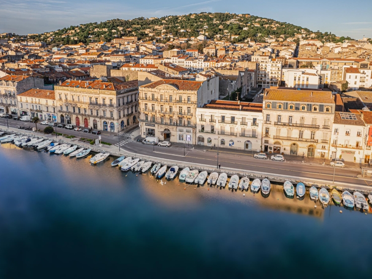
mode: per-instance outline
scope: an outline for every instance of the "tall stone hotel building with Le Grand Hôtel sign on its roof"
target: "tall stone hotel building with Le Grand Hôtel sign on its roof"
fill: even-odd
[[[139,87],[141,136],[196,144],[196,108],[218,99],[218,77],[162,79]]]

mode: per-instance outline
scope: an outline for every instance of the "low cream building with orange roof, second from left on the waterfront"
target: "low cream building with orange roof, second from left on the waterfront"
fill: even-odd
[[[57,122],[54,90],[30,89],[17,95],[19,115],[39,117],[41,121]]]

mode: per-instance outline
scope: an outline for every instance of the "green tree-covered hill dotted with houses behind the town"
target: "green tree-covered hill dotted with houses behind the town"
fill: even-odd
[[[171,37],[197,37],[205,35],[209,39],[231,40],[243,42],[247,39],[264,42],[265,38],[282,37],[286,39],[295,34],[304,34],[305,37],[319,39],[320,41],[341,42],[344,37],[319,31],[312,32],[308,28],[296,26],[287,22],[262,18],[249,14],[231,13],[198,13],[188,15],[164,16],[161,18],[134,18],[129,20],[112,19],[101,23],[87,23],[79,26],[70,26],[54,32],[29,36],[30,39],[44,41],[47,44],[75,44],[92,41],[111,41],[123,36],[137,36],[139,40],[154,40],[166,43]],[[172,35],[172,36],[171,36]]]

